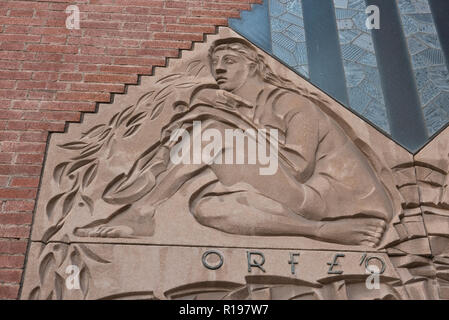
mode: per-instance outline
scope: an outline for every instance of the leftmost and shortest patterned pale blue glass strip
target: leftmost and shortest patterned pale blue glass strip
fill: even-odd
[[[307,45],[300,0],[270,0],[273,55],[308,77]]]

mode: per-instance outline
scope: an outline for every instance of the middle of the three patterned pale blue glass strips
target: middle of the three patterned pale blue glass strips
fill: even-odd
[[[350,108],[389,132],[371,31],[363,0],[334,0]]]

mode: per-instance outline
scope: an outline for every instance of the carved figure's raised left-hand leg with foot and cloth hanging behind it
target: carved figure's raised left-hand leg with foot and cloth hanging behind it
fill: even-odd
[[[170,149],[164,144],[148,149],[136,160],[129,173],[109,183],[103,194],[106,203],[122,205],[126,209],[119,209],[118,214],[111,214],[107,220],[77,228],[75,234],[111,238],[151,236],[155,207],[207,167],[204,163],[172,163]]]

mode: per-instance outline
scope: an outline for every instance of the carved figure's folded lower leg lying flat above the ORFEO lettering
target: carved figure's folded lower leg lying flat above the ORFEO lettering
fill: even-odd
[[[240,235],[302,236],[338,244],[374,247],[381,240],[386,226],[385,221],[376,218],[307,220],[254,191],[214,194],[197,199],[194,203],[192,211],[199,223]]]

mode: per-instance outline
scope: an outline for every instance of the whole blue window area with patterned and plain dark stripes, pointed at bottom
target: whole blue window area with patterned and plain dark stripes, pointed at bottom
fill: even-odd
[[[381,28],[390,22],[387,31],[366,27],[368,4],[391,9],[385,20],[380,12]],[[264,0],[241,16],[230,20],[231,28],[409,150],[449,123],[449,40],[438,38],[428,0]],[[438,19],[441,35],[445,24]],[[396,64],[384,45],[395,40],[401,44],[393,46],[401,53]],[[401,76],[407,85],[398,86]],[[404,112],[422,129],[415,135],[404,127]]]

